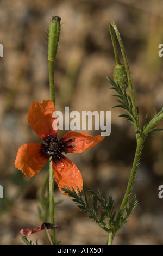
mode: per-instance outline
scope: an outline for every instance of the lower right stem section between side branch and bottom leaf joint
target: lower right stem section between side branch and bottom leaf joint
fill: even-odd
[[[140,161],[140,156],[141,156],[144,141],[145,141],[145,138],[143,139],[142,137],[139,137],[137,139],[137,147],[136,147],[133,167],[131,169],[131,174],[130,174],[130,178],[129,178],[129,181],[128,181],[126,193],[124,194],[123,201],[122,201],[122,204],[120,206],[120,210],[118,211],[118,214],[117,214],[117,217],[116,217],[116,222],[117,223],[120,221],[120,217],[122,216],[122,214],[124,212],[124,209],[126,208],[126,205],[128,203],[128,200],[129,200],[129,197],[130,197],[130,194],[131,194],[131,190],[133,188],[135,175],[136,175],[136,171],[137,171],[137,166],[138,166],[139,161]]]

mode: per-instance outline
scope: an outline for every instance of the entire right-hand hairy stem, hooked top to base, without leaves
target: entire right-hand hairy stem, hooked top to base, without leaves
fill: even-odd
[[[116,27],[116,25],[113,21],[109,22],[109,29],[110,29],[112,45],[113,45],[113,48],[114,48],[116,64],[120,63],[120,58],[118,56],[115,34],[117,36],[118,43],[119,43],[120,48],[121,48],[121,53],[122,53],[122,56],[123,56],[123,61],[124,61],[125,69],[126,69],[126,73],[127,73],[128,86],[129,86],[129,90],[130,90],[131,109],[132,109],[131,119],[133,120],[132,123],[134,125],[134,129],[135,129],[135,132],[136,132],[136,151],[135,151],[133,167],[131,169],[127,189],[126,189],[126,192],[124,194],[124,197],[123,197],[123,200],[122,200],[122,203],[121,203],[121,206],[120,206],[120,210],[118,211],[118,214],[116,216],[116,220],[115,220],[116,226],[112,225],[112,227],[110,227],[110,229],[108,231],[107,245],[112,244],[112,240],[114,239],[114,235],[115,235],[116,231],[118,229],[120,229],[122,227],[122,225],[124,224],[123,221],[125,220],[125,218],[127,216],[127,215],[124,215],[124,211],[126,211],[126,214],[128,214],[128,212],[127,212],[129,210],[129,208],[127,208],[128,203],[132,203],[132,200],[131,200],[131,202],[129,202],[129,198],[130,198],[130,194],[131,194],[131,191],[132,191],[132,188],[133,188],[133,185],[134,185],[135,175],[136,175],[137,167],[139,165],[140,156],[141,156],[142,149],[143,149],[143,143],[145,142],[146,137],[152,131],[162,130],[162,129],[157,129],[157,128],[153,129],[153,128],[156,124],[159,123],[159,121],[161,121],[163,119],[163,108],[162,108],[161,111],[158,114],[156,114],[156,112],[155,112],[155,115],[154,115],[153,119],[151,121],[149,121],[148,124],[145,123],[146,125],[144,125],[144,127],[141,131],[140,124],[139,124],[138,111],[137,111],[138,108],[135,105],[135,97],[134,97],[134,92],[133,92],[133,86],[132,86],[132,83],[131,83],[129,65],[128,65],[128,61],[127,61],[126,52],[124,50],[123,42],[122,42],[120,33],[118,32],[118,29],[117,29],[117,27]],[[128,115],[129,114],[130,113],[128,113]],[[126,218],[126,220],[127,220],[127,218]]]

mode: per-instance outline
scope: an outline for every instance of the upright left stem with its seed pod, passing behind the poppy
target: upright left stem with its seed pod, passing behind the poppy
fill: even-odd
[[[49,62],[49,86],[50,98],[55,106],[55,83],[54,83],[54,62],[57,54],[59,35],[60,35],[60,17],[53,16],[49,26],[48,41],[48,62]],[[52,161],[49,163],[49,216],[52,225],[55,225],[54,219],[54,171]],[[56,245],[55,229],[51,229],[52,242]]]

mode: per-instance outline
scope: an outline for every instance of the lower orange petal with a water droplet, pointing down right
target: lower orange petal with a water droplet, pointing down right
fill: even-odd
[[[54,178],[58,184],[59,190],[66,194],[61,188],[68,187],[69,190],[72,191],[72,187],[74,191],[78,193],[77,186],[79,190],[82,190],[83,187],[83,179],[82,174],[78,170],[77,166],[67,157],[62,155],[62,160],[54,161],[52,160],[52,167],[54,170]],[[66,194],[67,195],[67,194]],[[68,196],[68,195],[67,195]]]

